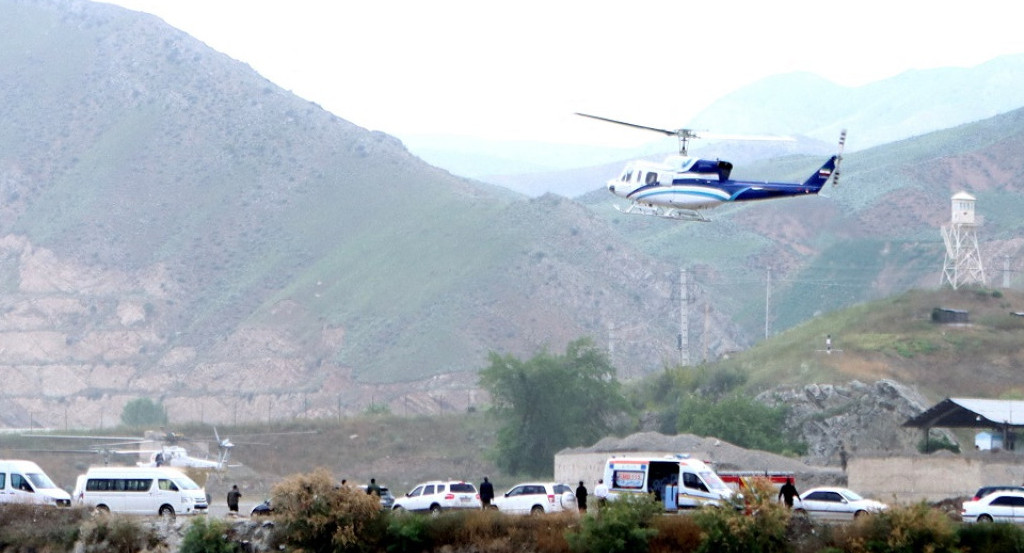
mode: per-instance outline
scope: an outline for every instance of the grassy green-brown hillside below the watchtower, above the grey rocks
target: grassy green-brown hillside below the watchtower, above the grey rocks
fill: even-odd
[[[966,310],[970,323],[935,323],[936,308]],[[1022,292],[912,290],[823,313],[716,367],[741,370],[752,390],[893,379],[931,399],[1018,397],[1024,393],[1024,316],[1014,313],[1020,311]]]

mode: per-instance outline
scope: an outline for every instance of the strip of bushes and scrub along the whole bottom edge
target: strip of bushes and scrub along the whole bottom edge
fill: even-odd
[[[295,474],[273,488],[266,520],[193,517],[182,538],[150,517],[92,516],[82,509],[0,506],[3,551],[178,551],[232,553],[996,553],[1024,551],[1024,529],[963,524],[926,504],[898,506],[850,523],[796,515],[767,482],[745,503],[687,513],[633,496],[588,513],[513,516],[494,510],[418,515],[382,511],[360,490],[326,470]],[[267,528],[269,528],[267,530]],[[176,549],[169,549],[176,547]]]

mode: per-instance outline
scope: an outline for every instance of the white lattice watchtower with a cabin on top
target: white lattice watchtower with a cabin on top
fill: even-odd
[[[975,198],[966,192],[952,198],[952,217],[942,225],[942,241],[946,244],[946,260],[942,265],[939,286],[949,284],[956,290],[966,284],[985,284],[985,269],[978,248],[978,222],[974,216]]]

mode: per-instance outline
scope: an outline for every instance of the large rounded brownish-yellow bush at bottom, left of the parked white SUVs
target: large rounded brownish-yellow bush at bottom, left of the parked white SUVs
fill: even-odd
[[[274,535],[310,551],[376,551],[387,524],[376,497],[338,484],[323,468],[273,486],[271,503]]]

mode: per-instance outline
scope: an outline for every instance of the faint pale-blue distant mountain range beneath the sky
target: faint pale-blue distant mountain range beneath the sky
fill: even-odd
[[[908,71],[856,87],[838,85],[809,73],[776,75],[726,94],[690,121],[635,123],[799,138],[797,143],[697,141],[691,147],[696,156],[745,163],[831,152],[841,129],[850,130],[847,145],[852,152],[1022,107],[1024,54],[1017,54],[974,68]],[[627,160],[665,157],[674,148],[669,138],[634,150],[592,147],[591,157],[582,155],[575,145],[540,142],[512,144],[430,136],[416,137],[409,144],[417,155],[456,174],[530,196],[550,192],[569,198],[600,186],[617,174]],[[591,176],[595,166],[605,166],[600,179]]]

